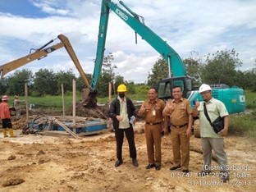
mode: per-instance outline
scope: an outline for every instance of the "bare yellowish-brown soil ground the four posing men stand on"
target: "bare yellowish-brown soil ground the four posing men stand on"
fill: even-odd
[[[13,121],[16,138],[0,133],[0,191],[255,191],[255,139],[228,135],[225,148],[231,180],[220,181],[219,172],[199,177],[203,157],[199,139],[191,137],[190,174],[169,171],[172,166],[170,135],[162,137],[162,169],[148,164],[143,122],[135,126],[139,167],[129,158],[127,140],[124,163],[114,167],[114,133],[71,137],[21,135],[22,121]],[[213,166],[217,162],[213,161]]]

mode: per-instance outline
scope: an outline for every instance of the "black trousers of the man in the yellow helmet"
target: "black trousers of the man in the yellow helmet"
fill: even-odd
[[[130,149],[130,158],[137,158],[136,147],[135,147],[135,132],[132,127],[127,129],[115,129],[115,136],[117,141],[117,158],[122,159],[121,149],[124,142],[124,135],[126,133],[126,138],[128,140]]]

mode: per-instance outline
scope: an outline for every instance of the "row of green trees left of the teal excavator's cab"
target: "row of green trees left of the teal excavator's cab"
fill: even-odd
[[[97,90],[98,97],[106,97],[108,95],[108,83],[113,85],[112,94],[116,94],[117,86],[124,83],[129,89],[130,94],[135,94],[135,83],[124,80],[121,75],[115,75],[114,69],[117,66],[112,65],[113,56],[110,53],[103,59],[103,70],[98,78]],[[89,82],[92,82],[93,76],[85,74]],[[33,73],[29,69],[16,70],[13,74],[0,80],[0,95],[24,95],[25,83],[29,87],[29,95],[40,97],[43,95],[59,95],[62,94],[62,85],[64,93],[72,92],[72,80],[75,80],[76,90],[86,88],[82,78],[75,77],[74,71],[54,72],[49,69],[40,69]],[[116,85],[116,86],[115,86]]]

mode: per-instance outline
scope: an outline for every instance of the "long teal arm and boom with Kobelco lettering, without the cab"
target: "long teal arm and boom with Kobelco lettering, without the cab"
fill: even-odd
[[[158,53],[162,55],[162,57],[168,63],[169,77],[185,76],[185,65],[178,53],[176,53],[176,51],[171,48],[171,46],[168,45],[166,41],[161,39],[158,34],[155,34],[153,30],[150,30],[149,27],[144,24],[144,20],[141,16],[131,11],[124,2],[119,2],[123,7],[126,8],[127,11],[117,6],[117,4],[111,2],[111,0],[102,0],[98,30],[98,47],[91,88],[95,89],[95,86],[97,85],[98,76],[100,74],[103,63],[103,54],[105,51],[105,41],[107,36],[107,22],[110,11],[113,11],[115,14],[117,14],[117,16],[119,16],[122,21],[125,21],[127,25],[135,30],[136,34],[139,34],[142,39],[147,41]]]

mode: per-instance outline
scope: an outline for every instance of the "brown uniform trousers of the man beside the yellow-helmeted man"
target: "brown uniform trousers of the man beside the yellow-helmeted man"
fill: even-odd
[[[155,164],[161,166],[162,153],[161,153],[161,141],[162,141],[162,124],[149,125],[145,124],[145,135],[147,143],[147,152],[149,164]]]

